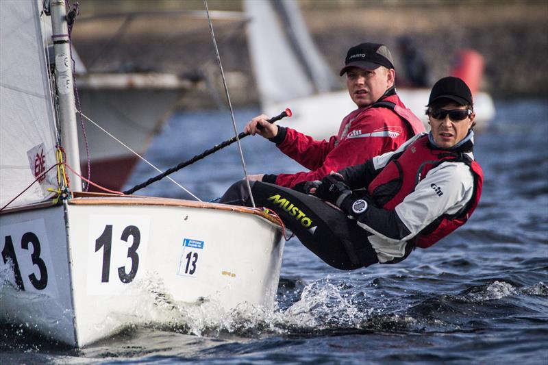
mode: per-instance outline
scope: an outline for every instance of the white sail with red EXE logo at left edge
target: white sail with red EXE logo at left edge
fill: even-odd
[[[0,1],[0,207],[55,164],[55,125],[39,18],[36,0]],[[55,174],[48,175],[55,184]],[[10,206],[50,197],[50,181],[42,179]]]

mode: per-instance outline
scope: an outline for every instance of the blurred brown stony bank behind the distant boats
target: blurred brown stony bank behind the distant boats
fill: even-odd
[[[484,56],[480,88],[494,99],[548,96],[547,1],[296,2],[334,75],[349,47],[382,42],[393,52],[400,75],[406,62],[403,45],[419,53],[431,86],[449,73],[458,49],[471,48]],[[212,12],[242,12],[239,0],[210,0],[208,6]],[[223,92],[203,9],[200,0],[82,1],[74,44],[88,71],[152,70],[205,80],[179,106],[209,108]],[[240,14],[213,16],[213,25],[231,99],[236,105],[251,105],[259,100],[245,36],[249,18]],[[336,79],[344,88],[344,78]]]

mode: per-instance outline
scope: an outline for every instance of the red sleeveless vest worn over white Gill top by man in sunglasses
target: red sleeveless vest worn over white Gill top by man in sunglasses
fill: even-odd
[[[414,191],[422,177],[442,162],[464,162],[473,173],[474,192],[469,203],[456,214],[443,214],[419,232],[412,242],[425,249],[464,225],[474,212],[479,197],[482,195],[482,168],[463,153],[451,153],[428,147],[428,136],[419,138],[410,144],[398,158],[388,162],[367,187],[375,202],[386,210],[395,210],[396,205]]]

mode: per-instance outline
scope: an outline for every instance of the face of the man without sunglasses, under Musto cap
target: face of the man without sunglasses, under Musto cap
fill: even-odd
[[[351,67],[347,71],[347,88],[358,108],[375,103],[394,84],[395,71],[383,66],[375,70]]]

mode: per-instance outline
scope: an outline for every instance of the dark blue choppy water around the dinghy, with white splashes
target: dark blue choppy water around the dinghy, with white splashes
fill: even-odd
[[[256,113],[238,110],[238,127]],[[231,136],[227,112],[178,114],[147,158],[166,169]],[[260,137],[242,148],[248,173],[300,170]],[[129,328],[82,350],[3,325],[0,363],[548,364],[548,102],[497,103],[475,155],[484,193],[469,223],[399,264],[344,272],[292,239],[274,311],[181,307],[174,325]],[[127,187],[152,175],[140,164]],[[242,175],[233,145],[173,177],[209,200]],[[169,181],[142,192],[188,197]]]

